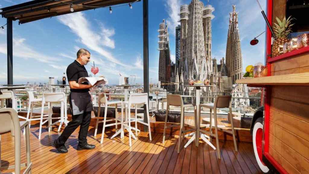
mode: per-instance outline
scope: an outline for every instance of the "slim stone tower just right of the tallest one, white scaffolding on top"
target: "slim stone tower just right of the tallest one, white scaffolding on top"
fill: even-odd
[[[212,12],[214,7],[207,5],[203,8],[203,31],[205,41],[205,57],[207,65],[207,76],[213,73],[213,62],[211,60],[211,43],[212,43],[212,32],[211,32],[211,20],[214,19]]]

